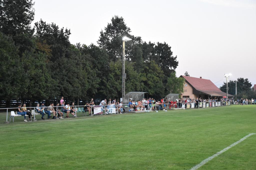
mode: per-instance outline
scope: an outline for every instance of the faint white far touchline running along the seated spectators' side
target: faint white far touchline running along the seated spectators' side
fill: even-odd
[[[130,116],[141,116],[141,115],[152,115],[154,113],[145,113],[145,114],[139,114],[139,115],[123,115],[123,116],[111,116],[111,117],[105,117],[105,118],[89,118],[89,119],[83,119],[83,120],[68,120],[65,122],[59,122],[59,123],[48,123],[48,124],[39,124],[39,125],[31,125],[31,126],[22,126],[22,127],[16,127],[16,128],[6,128],[6,129],[0,129],[1,130],[9,130],[9,129],[19,129],[19,128],[30,128],[35,126],[44,126],[44,125],[53,125],[53,124],[61,124],[61,123],[69,123],[69,122],[81,122],[81,121],[87,121],[87,120],[99,120],[99,119],[110,119],[110,118],[119,118],[119,117],[130,117]]]

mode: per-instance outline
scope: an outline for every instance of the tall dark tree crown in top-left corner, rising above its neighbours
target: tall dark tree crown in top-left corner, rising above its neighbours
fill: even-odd
[[[32,0],[0,0],[0,32],[12,36],[20,56],[34,45],[34,29],[30,26],[34,20],[33,5]]]

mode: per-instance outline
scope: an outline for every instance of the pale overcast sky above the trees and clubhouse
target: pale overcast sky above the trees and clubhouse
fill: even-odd
[[[35,0],[34,8],[34,21],[71,29],[72,44],[97,44],[118,15],[132,35],[172,47],[177,76],[215,83],[232,73],[256,83],[256,0]]]

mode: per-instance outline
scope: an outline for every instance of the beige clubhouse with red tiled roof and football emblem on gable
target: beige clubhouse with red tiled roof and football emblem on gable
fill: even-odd
[[[196,99],[218,99],[226,96],[226,93],[221,91],[211,80],[189,77],[181,75],[180,77],[185,79],[185,84],[183,88],[182,98]],[[228,95],[228,97],[234,97],[233,95]]]

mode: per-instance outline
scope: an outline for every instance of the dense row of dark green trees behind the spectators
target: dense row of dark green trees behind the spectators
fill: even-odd
[[[71,44],[69,29],[34,20],[32,0],[0,1],[0,97],[31,101],[122,96],[122,37],[126,42],[126,92],[154,98],[181,93],[179,62],[167,43],[132,35],[123,17],[100,31],[98,44]]]

